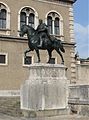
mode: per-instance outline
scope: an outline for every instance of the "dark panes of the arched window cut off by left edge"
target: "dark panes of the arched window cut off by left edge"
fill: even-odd
[[[6,10],[0,10],[0,28],[6,28]]]

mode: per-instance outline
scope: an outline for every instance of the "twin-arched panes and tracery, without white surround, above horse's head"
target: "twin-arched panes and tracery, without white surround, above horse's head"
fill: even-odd
[[[23,8],[20,13],[20,27],[23,24],[34,27],[34,20],[35,20],[34,17],[35,17],[34,10],[32,10],[29,7]]]

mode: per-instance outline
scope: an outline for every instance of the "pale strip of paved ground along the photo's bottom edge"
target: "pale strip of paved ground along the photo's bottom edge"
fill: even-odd
[[[62,115],[59,117],[45,117],[45,118],[21,118],[21,117],[11,117],[0,113],[0,120],[89,120],[89,117],[77,116],[77,115]]]

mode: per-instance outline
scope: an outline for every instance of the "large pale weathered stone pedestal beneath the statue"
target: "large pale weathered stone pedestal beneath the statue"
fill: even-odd
[[[68,107],[68,80],[64,65],[32,64],[21,86],[21,109],[63,110]]]

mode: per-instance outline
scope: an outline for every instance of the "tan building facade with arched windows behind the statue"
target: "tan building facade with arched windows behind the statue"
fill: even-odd
[[[20,37],[23,24],[37,28],[39,19],[48,25],[49,33],[64,43],[63,54],[70,83],[76,82],[74,0],[0,0],[0,90],[19,90],[29,76],[29,64],[35,63],[35,51],[28,53],[27,38]],[[41,62],[46,63],[47,51],[40,51]],[[53,62],[60,64],[54,51]]]

